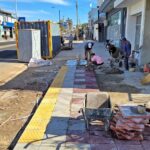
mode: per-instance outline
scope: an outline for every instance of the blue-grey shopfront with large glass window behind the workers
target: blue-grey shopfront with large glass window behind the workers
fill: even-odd
[[[100,37],[101,41],[109,39],[119,47],[120,39],[125,36],[126,26],[126,8],[115,8],[114,0],[104,0],[100,7],[100,14],[105,15],[105,19],[101,19]]]

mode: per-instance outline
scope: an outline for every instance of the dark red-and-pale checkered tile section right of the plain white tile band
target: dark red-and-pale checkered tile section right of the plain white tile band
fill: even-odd
[[[78,112],[83,107],[85,94],[97,92],[98,86],[94,72],[89,72],[85,67],[78,66],[75,72],[72,101],[70,104],[70,119],[67,130],[67,145],[74,145],[76,149],[90,150],[150,150],[150,129],[146,129],[147,140],[121,141],[113,138],[104,131],[103,126],[92,125],[86,131],[82,114]],[[82,146],[82,147],[81,147]],[[85,147],[84,147],[85,146]]]

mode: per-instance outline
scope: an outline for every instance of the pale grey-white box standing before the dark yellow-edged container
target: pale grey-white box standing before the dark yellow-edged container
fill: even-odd
[[[40,30],[21,29],[18,33],[18,60],[29,62],[31,58],[41,58]]]

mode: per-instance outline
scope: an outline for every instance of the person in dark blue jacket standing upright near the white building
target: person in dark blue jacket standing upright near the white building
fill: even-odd
[[[129,56],[131,55],[131,43],[126,38],[123,38],[121,41],[121,48],[124,53],[125,69],[129,70]]]

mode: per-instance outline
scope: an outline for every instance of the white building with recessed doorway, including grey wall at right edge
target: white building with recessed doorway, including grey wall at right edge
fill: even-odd
[[[126,38],[132,50],[140,47],[140,64],[150,62],[150,0],[115,0],[115,8],[127,8]]]

